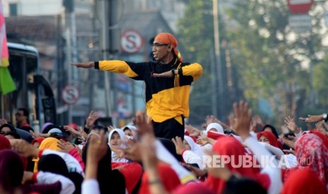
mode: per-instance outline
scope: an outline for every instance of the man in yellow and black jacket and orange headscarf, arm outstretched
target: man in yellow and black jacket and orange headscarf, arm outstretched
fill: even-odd
[[[183,63],[177,45],[178,41],[172,34],[160,33],[152,45],[156,62],[102,60],[72,65],[123,73],[144,81],[147,115],[152,119],[155,136],[169,139],[180,136],[183,139],[183,118],[189,116],[190,85],[202,75],[202,66]]]

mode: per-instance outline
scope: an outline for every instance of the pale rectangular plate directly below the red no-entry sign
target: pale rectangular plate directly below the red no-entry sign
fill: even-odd
[[[306,32],[311,30],[311,16],[308,14],[289,15],[288,24],[294,32]]]

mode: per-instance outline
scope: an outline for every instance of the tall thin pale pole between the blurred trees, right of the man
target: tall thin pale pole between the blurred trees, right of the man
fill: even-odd
[[[221,67],[221,56],[220,56],[220,37],[219,37],[219,9],[218,0],[213,0],[213,25],[214,25],[214,46],[215,46],[215,58],[217,62],[217,81],[219,86],[219,119],[223,119],[224,116],[224,105],[225,97],[223,95],[223,77]]]

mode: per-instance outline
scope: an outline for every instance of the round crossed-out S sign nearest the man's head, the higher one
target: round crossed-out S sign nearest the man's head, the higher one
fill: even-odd
[[[137,53],[143,46],[143,39],[136,30],[126,30],[122,34],[121,47],[126,53]]]

